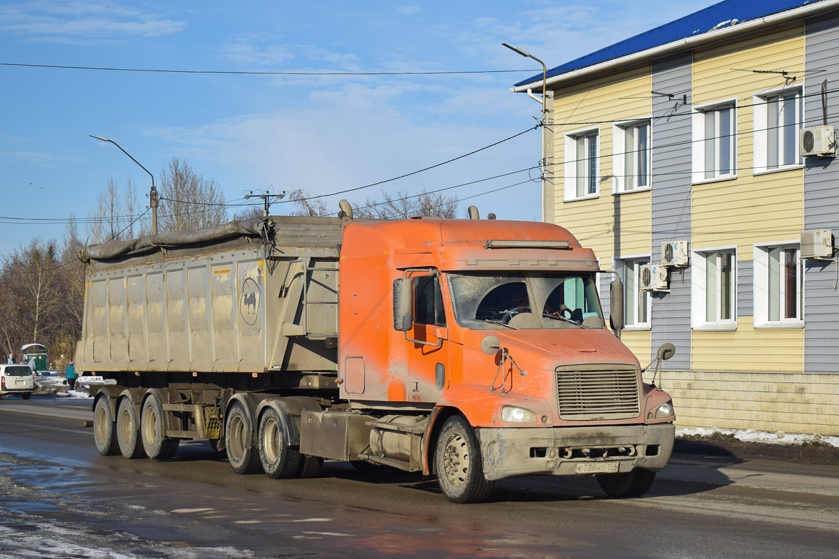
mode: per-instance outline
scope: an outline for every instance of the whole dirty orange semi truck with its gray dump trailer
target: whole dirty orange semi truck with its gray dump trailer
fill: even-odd
[[[80,256],[102,454],[208,439],[238,474],[343,460],[436,476],[458,503],[539,474],[637,496],[670,458],[672,402],[618,338],[619,279],[609,329],[597,258],[560,226],[272,216]]]

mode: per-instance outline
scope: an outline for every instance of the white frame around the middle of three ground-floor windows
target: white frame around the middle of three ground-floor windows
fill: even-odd
[[[694,330],[736,330],[737,329],[737,281],[739,279],[739,266],[737,265],[737,246],[711,246],[709,248],[690,251],[690,328]],[[732,318],[722,320],[707,319],[707,291],[706,271],[707,255],[711,252],[732,252],[733,281],[731,287]],[[720,267],[717,266],[717,286],[720,285]],[[722,297],[719,291],[715,294],[717,299],[717,317],[721,314]]]

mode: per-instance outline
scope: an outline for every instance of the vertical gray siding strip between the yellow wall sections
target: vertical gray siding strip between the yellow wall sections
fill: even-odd
[[[653,91],[687,94],[690,103],[692,55],[655,60]],[[662,241],[690,239],[690,106],[653,98],[653,261],[661,261]],[[675,144],[675,145],[674,145]],[[684,273],[684,277],[682,274]],[[690,268],[670,272],[670,293],[653,300],[652,354],[660,344],[676,346],[670,370],[690,369]]]

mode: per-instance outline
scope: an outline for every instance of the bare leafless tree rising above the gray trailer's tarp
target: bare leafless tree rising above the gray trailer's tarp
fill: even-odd
[[[221,186],[215,179],[195,174],[186,161],[173,157],[160,180],[158,231],[202,229],[226,222]]]

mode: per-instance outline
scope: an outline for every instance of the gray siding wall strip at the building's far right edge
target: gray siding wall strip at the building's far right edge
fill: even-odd
[[[805,22],[805,126],[821,124],[821,83],[839,85],[839,14]],[[818,70],[818,71],[814,71]],[[839,130],[839,95],[827,94],[827,123]],[[839,235],[839,161],[807,159],[804,173],[805,229]],[[836,264],[809,261],[805,271],[804,370],[839,372],[839,292]]]

